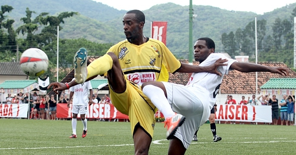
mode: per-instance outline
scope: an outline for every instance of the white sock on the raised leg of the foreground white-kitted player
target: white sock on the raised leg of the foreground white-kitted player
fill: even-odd
[[[143,88],[143,93],[151,100],[155,107],[158,108],[161,113],[163,113],[164,118],[175,115],[161,88],[154,85],[146,85]]]

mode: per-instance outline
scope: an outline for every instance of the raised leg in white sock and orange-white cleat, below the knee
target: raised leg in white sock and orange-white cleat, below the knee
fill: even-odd
[[[163,113],[167,139],[171,139],[177,128],[183,124],[185,117],[173,112],[168,100],[166,89],[162,82],[146,82],[142,85],[143,93]]]

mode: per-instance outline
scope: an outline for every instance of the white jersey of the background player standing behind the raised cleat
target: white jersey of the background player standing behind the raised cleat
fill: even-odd
[[[72,81],[74,78],[72,79]],[[70,87],[70,91],[74,92],[72,105],[86,105],[89,102],[88,90],[93,89],[90,82],[84,82],[76,86]]]

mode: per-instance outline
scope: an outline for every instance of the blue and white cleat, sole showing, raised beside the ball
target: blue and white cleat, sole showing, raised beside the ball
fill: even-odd
[[[75,82],[83,83],[87,77],[87,51],[80,48],[74,56],[74,77]]]

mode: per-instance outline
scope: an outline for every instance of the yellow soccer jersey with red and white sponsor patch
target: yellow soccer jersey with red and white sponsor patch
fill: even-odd
[[[168,72],[174,73],[181,67],[180,61],[163,42],[152,38],[139,46],[126,39],[108,52],[118,56],[126,78],[139,86],[149,81],[168,81]]]

